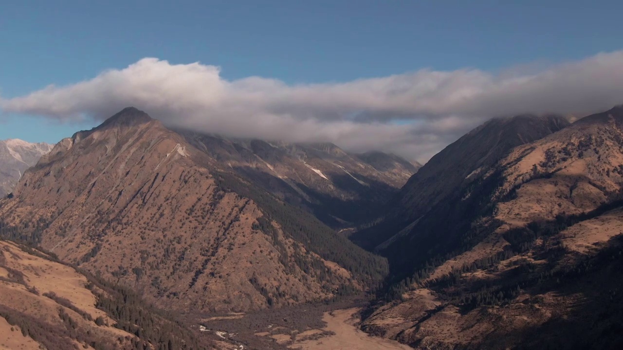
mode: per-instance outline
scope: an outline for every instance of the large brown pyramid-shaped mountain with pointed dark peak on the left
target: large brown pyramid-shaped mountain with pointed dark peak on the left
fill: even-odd
[[[27,170],[0,227],[174,310],[327,300],[386,273],[383,258],[221,164],[126,108]]]

